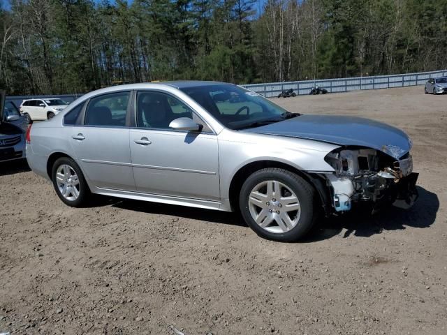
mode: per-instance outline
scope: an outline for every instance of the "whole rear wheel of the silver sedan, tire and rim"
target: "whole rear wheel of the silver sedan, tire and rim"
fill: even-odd
[[[68,206],[82,207],[90,195],[82,171],[71,158],[61,157],[54,162],[52,181],[57,195]]]

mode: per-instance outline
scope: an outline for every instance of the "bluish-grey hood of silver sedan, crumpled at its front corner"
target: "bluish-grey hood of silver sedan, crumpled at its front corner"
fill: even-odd
[[[396,159],[411,149],[411,140],[400,129],[362,117],[300,115],[244,131],[318,140],[342,146],[369,147]]]

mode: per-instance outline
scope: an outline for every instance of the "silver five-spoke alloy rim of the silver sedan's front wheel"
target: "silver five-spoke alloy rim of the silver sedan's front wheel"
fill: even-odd
[[[301,207],[297,195],[280,181],[268,180],[257,184],[251,190],[248,202],[251,217],[268,232],[288,232],[300,220]]]

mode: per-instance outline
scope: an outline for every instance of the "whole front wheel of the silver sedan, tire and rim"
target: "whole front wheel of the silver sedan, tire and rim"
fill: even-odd
[[[259,236],[291,242],[314,224],[314,188],[297,174],[267,168],[251,174],[240,191],[244,220]]]

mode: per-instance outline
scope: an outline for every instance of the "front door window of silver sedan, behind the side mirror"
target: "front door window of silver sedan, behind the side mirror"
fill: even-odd
[[[211,131],[190,107],[179,99],[156,91],[139,91],[136,101],[138,128],[170,129],[169,124],[179,117],[189,117]]]

